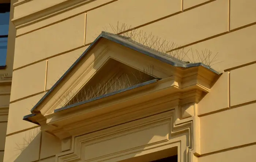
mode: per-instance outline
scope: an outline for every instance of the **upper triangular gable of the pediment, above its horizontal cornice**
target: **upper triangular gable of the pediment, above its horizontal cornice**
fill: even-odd
[[[152,79],[168,78],[179,70],[174,66],[181,65],[177,61],[164,59],[137,45],[127,48],[127,45],[124,46],[123,43],[118,42],[120,40],[125,42],[126,38],[118,37],[117,42],[109,39],[98,38],[98,41],[76,60],[31,112],[49,115],[56,109],[74,103],[113,93]]]

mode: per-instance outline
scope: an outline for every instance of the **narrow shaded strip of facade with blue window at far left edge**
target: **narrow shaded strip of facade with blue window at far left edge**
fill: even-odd
[[[3,161],[4,157],[16,35],[14,25],[10,23],[9,26],[9,19],[12,17],[10,10],[13,11],[10,1],[0,1],[0,161]],[[7,40],[10,47],[8,49]]]

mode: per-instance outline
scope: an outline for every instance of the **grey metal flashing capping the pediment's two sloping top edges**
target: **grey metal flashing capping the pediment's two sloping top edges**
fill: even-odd
[[[50,93],[52,93],[52,91],[54,90],[54,88],[56,88],[57,86],[59,86],[60,82],[69,74],[69,72],[72,71],[72,69],[86,56],[86,54],[93,48],[93,46],[95,44],[97,44],[97,42],[101,39],[101,38],[106,38],[109,39],[110,41],[116,42],[118,44],[121,44],[127,48],[136,50],[140,53],[146,54],[147,56],[153,57],[154,59],[160,60],[164,63],[173,65],[174,67],[182,67],[182,68],[189,68],[189,67],[195,67],[195,66],[203,66],[209,70],[211,70],[212,72],[219,74],[219,72],[213,70],[212,68],[208,67],[207,65],[204,65],[202,63],[193,63],[193,64],[184,64],[180,61],[177,60],[171,60],[171,59],[165,59],[163,57],[160,57],[157,55],[157,53],[153,50],[150,49],[146,49],[142,46],[139,46],[135,43],[132,43],[131,41],[128,40],[127,37],[120,37],[120,36],[116,36],[114,34],[111,33],[107,33],[107,32],[103,32],[101,34],[99,34],[99,36],[92,42],[92,44],[83,52],[83,54],[75,61],[74,64],[71,65],[71,67],[63,74],[63,76],[61,76],[61,78],[52,86],[52,88],[50,88],[50,90],[37,102],[37,104],[31,109],[31,112],[33,113],[34,110],[45,100],[46,97],[48,97],[48,95]]]

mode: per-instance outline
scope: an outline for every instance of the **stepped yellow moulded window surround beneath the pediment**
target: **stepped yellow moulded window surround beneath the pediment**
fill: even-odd
[[[180,145],[179,149],[181,149],[180,155],[179,155],[180,161],[190,162],[191,151],[193,150],[193,121],[191,120],[191,121],[186,121],[184,123],[176,124],[175,118],[176,118],[175,110],[170,110],[168,112],[164,112],[164,113],[150,116],[147,118],[142,118],[136,121],[125,123],[123,125],[118,125],[112,128],[108,128],[102,131],[97,131],[97,132],[89,133],[87,135],[73,137],[74,142],[72,143],[72,150],[69,152],[62,152],[56,155],[57,161],[58,162],[64,162],[64,161],[65,162],[71,162],[71,161],[72,162],[78,162],[78,161],[112,162],[112,161],[117,161],[116,159],[118,159],[119,161],[121,159],[127,159],[135,156],[136,152],[140,152],[140,154],[143,154],[144,151],[148,152],[148,150],[153,149],[155,147],[158,147],[159,149],[161,149],[161,147],[168,145],[168,147],[171,148],[171,147],[176,147],[177,143],[180,143],[179,144]],[[165,126],[167,126],[168,130],[164,130]],[[166,138],[159,137],[158,140],[153,141],[152,143],[150,142],[147,143],[147,141],[145,141],[144,144],[142,142],[142,145],[138,145],[130,148],[129,148],[129,143],[124,142],[124,144],[126,144],[127,146],[121,145],[120,147],[124,147],[128,149],[114,151],[113,153],[101,155],[98,157],[97,157],[97,153],[95,153],[96,155],[94,154],[91,156],[91,158],[86,159],[86,157],[88,157],[86,153],[90,154],[89,148],[94,144],[98,146],[101,143],[104,144],[104,142],[110,142],[110,141],[118,142],[122,138],[125,140],[125,137],[129,138],[129,136],[138,135],[138,134],[140,135],[140,133],[142,133],[142,138],[146,138],[148,134],[145,134],[145,133],[154,131],[158,127],[161,128],[160,130],[163,131],[164,134],[165,134],[165,131],[167,131]],[[182,135],[186,136],[186,140],[181,138]],[[182,147],[181,143],[182,144],[185,143],[185,147]],[[109,144],[111,145],[111,142]],[[116,143],[113,143],[113,145],[115,144]],[[133,143],[133,144],[136,145],[137,143]],[[85,151],[87,147],[89,147],[88,148],[89,150]],[[108,146],[102,145],[102,147],[108,147]],[[93,149],[94,146],[91,148]],[[184,155],[183,152],[185,153],[186,156],[183,156]]]

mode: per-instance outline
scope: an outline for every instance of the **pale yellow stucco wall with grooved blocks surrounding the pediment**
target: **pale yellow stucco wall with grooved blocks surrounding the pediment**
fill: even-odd
[[[198,104],[202,155],[198,161],[253,161],[256,142],[254,0],[78,2],[19,0],[14,5],[12,22],[17,31],[9,35],[15,34],[16,40],[8,42],[8,50],[14,50],[10,47],[15,45],[11,96],[10,87],[4,86],[8,89],[4,95],[1,95],[4,88],[0,89],[0,109],[9,107],[10,96],[5,149],[5,133],[0,133],[0,161],[3,154],[4,162],[54,161],[54,155],[61,149],[60,141],[22,118],[103,28],[111,32],[109,23],[116,26],[117,21],[152,32],[185,49],[218,52],[212,68],[225,72]],[[11,57],[7,57],[9,60]],[[0,130],[5,129],[6,120],[0,116]]]

